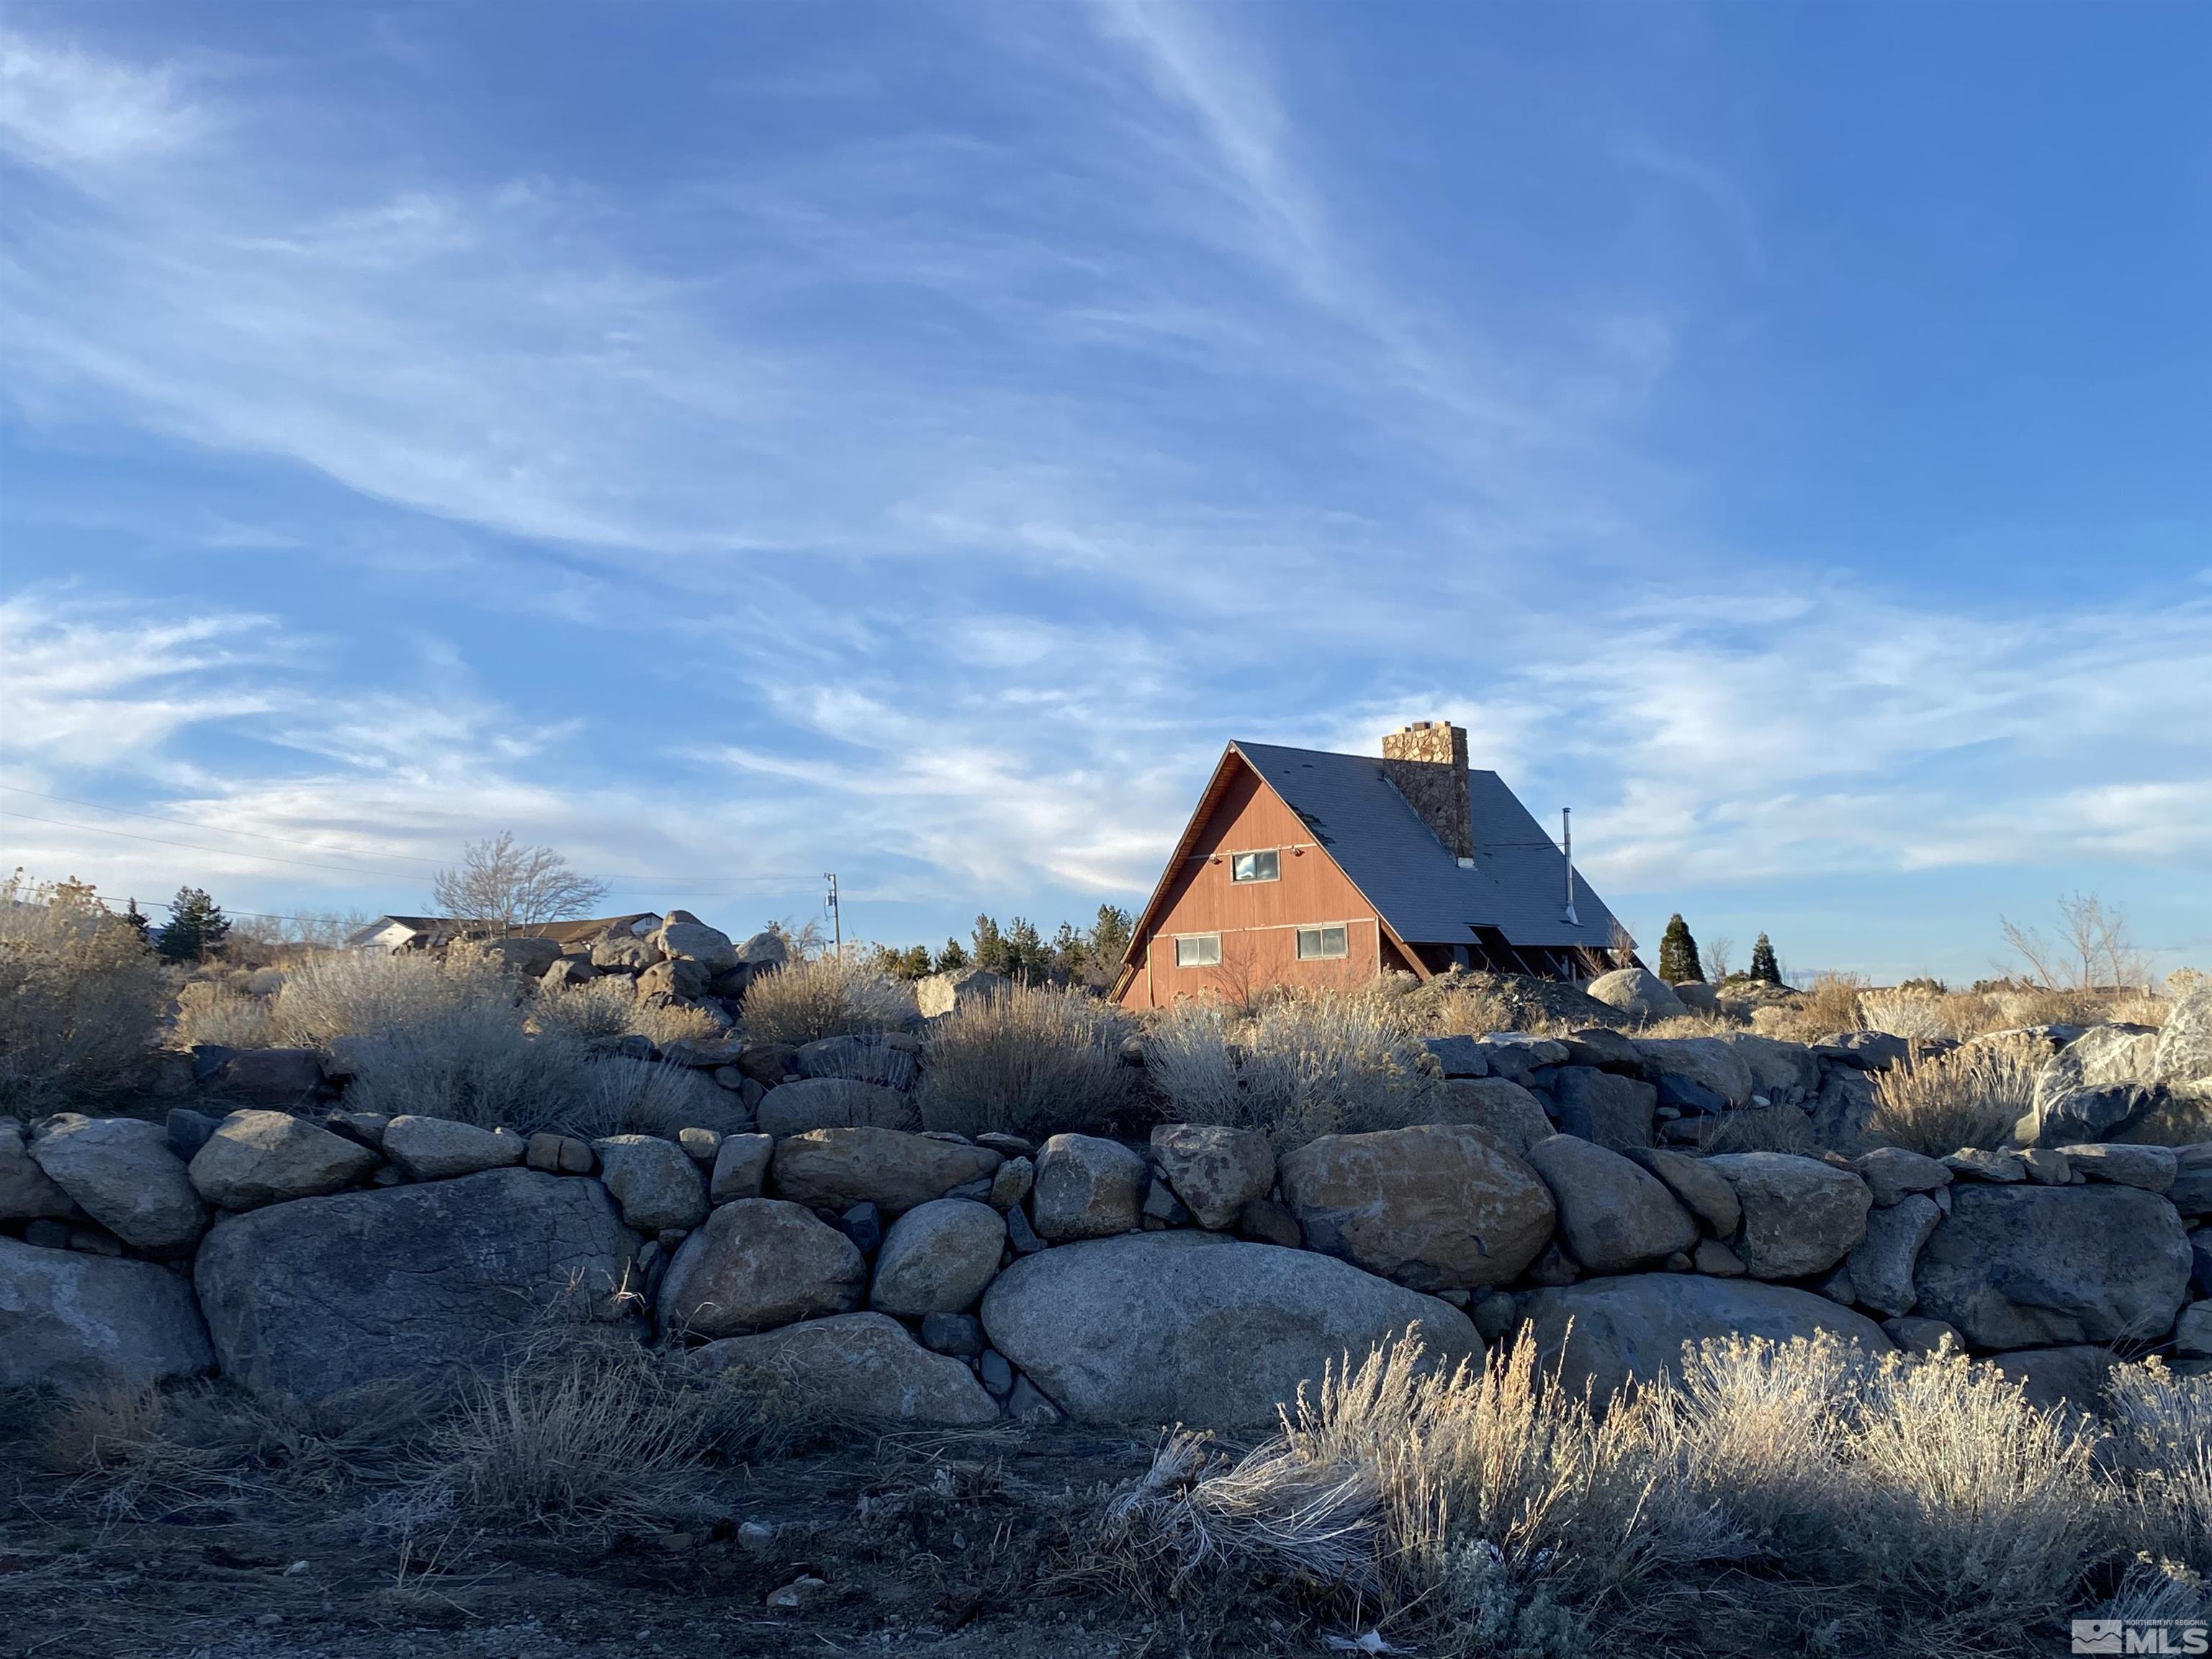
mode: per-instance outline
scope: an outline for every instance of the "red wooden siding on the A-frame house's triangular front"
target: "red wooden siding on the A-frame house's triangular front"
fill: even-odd
[[[1281,878],[1230,880],[1230,854],[1281,854]],[[1314,832],[1245,765],[1234,765],[1219,801],[1168,872],[1159,911],[1137,942],[1126,1006],[1157,1009],[1177,998],[1228,995],[1263,984],[1352,987],[1383,967],[1407,967],[1383,936],[1374,907],[1314,845]],[[1301,927],[1343,925],[1347,953],[1301,962]],[[1219,967],[1175,967],[1177,933],[1219,933]]]

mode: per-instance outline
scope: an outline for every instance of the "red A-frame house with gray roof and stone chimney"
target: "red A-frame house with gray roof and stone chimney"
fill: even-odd
[[[1586,980],[1635,940],[1467,732],[1420,721],[1383,759],[1230,743],[1137,918],[1113,1000],[1243,998],[1451,967]]]

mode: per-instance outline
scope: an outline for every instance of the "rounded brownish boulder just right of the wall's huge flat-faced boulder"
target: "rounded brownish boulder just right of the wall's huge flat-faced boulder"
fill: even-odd
[[[737,1199],[677,1245],[659,1314],[664,1329],[741,1336],[849,1314],[865,1292],[867,1261],[843,1232],[783,1199]]]

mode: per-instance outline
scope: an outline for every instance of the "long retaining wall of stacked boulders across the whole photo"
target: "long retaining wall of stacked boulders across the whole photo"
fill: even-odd
[[[2044,1398],[2093,1394],[2115,1354],[2212,1360],[2212,1146],[1663,1144],[1683,1119],[1661,1110],[1818,1113],[1871,1042],[1438,1040],[1453,1121],[1283,1159],[1192,1124],[1144,1146],[916,1133],[911,1046],[841,1042],[814,1079],[807,1051],[681,1062],[774,1075],[752,1133],[0,1124],[0,1385],[217,1369],[330,1396],[495,1363],[560,1318],[929,1422],[1254,1425],[1409,1325],[1453,1358],[1528,1323],[1599,1387],[1730,1332],[1949,1338]]]

